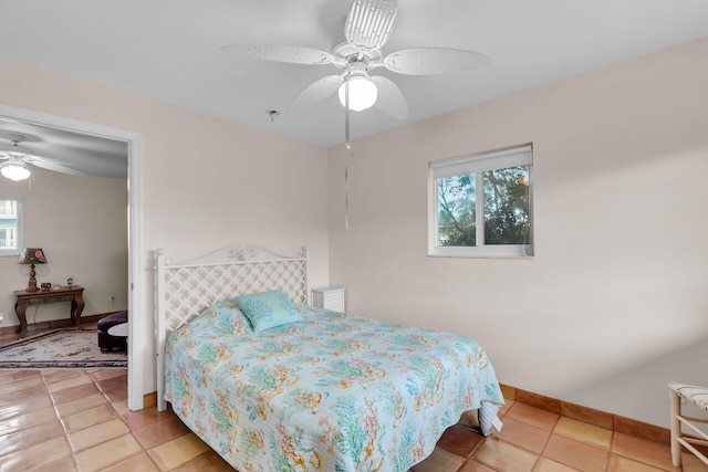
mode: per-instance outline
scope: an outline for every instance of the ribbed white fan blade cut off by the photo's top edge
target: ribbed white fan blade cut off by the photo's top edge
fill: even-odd
[[[344,36],[361,52],[384,46],[394,29],[398,0],[354,0],[346,15]]]

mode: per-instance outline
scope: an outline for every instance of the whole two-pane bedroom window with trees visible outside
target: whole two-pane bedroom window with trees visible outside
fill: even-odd
[[[429,255],[533,256],[532,145],[429,166]]]

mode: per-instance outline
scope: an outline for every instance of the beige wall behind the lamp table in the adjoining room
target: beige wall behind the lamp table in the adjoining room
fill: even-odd
[[[0,178],[0,195],[22,197],[24,245],[44,250],[38,285],[63,285],[67,276],[83,286],[83,315],[127,307],[127,186],[125,180],[71,177],[33,168],[29,180]],[[0,326],[18,325],[12,291],[28,285],[30,268],[17,256],[0,258]],[[115,296],[115,304],[108,302]],[[70,302],[33,305],[28,323],[67,318]]]

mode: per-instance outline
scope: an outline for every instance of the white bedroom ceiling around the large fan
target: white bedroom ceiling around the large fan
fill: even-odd
[[[344,141],[344,111],[335,96],[296,113],[288,105],[336,67],[239,59],[220,46],[330,51],[343,34],[350,6],[350,0],[0,0],[0,54],[333,146]],[[352,138],[706,35],[708,0],[399,0],[386,52],[466,49],[488,55],[491,65],[437,76],[377,69],[375,74],[398,84],[409,116],[399,122],[375,107],[355,113]],[[272,120],[271,109],[280,112]]]

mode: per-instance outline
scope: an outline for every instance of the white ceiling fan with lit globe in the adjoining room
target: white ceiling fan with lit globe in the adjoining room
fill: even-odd
[[[7,134],[4,136],[12,144],[0,143],[0,172],[10,180],[19,181],[30,177],[28,164],[70,176],[85,176],[84,172],[67,167],[65,162],[59,159],[38,156],[32,149],[20,146],[20,143],[25,139],[23,135]]]

